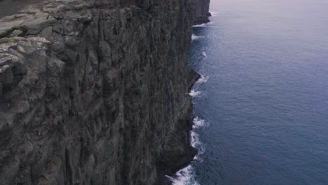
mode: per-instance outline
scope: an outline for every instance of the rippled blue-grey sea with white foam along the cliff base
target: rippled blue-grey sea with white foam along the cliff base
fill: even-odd
[[[191,144],[174,184],[328,184],[328,1],[212,0],[194,27]]]

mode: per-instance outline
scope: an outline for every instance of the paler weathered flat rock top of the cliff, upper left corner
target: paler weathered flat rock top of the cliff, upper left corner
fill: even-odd
[[[32,1],[4,0],[0,1],[1,7],[6,7],[10,11],[1,12],[0,15],[0,38],[13,36],[33,36],[41,32],[42,29],[54,25],[56,18],[64,15],[64,12],[71,11],[69,18],[81,20],[90,19],[88,13],[81,11],[95,4],[86,4],[80,0],[32,0]],[[2,9],[2,8],[1,8]]]

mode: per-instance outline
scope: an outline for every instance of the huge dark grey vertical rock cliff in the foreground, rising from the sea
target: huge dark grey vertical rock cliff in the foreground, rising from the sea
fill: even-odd
[[[1,184],[159,184],[189,163],[193,7],[50,0],[2,18]]]

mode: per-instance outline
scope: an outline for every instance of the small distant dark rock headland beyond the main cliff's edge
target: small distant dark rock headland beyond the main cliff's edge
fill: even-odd
[[[210,22],[208,17],[210,14],[210,0],[196,0],[196,18],[195,25],[200,25],[203,23]]]

